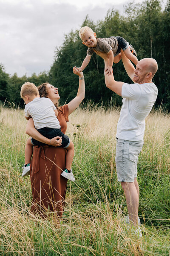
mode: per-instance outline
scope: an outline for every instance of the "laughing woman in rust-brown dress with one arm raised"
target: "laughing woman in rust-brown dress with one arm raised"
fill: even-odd
[[[79,88],[77,96],[68,104],[59,107],[58,120],[61,131],[65,133],[67,129],[68,116],[80,105],[85,97],[85,81],[82,72],[77,72],[76,67],[73,73],[79,76]],[[58,88],[45,83],[40,86],[40,97],[48,97],[57,105],[60,99]],[[61,145],[61,138],[54,137],[49,140],[42,136],[35,128],[32,119],[29,119],[26,133],[48,144],[43,146],[34,146],[34,152],[31,160],[31,189],[33,201],[31,206],[32,212],[38,212],[45,215],[45,211],[57,212],[58,216],[62,216],[65,193],[67,189],[67,179],[61,176],[62,170],[65,169],[65,148],[57,147]],[[58,140],[57,140],[58,139]],[[50,146],[49,146],[50,145]]]

